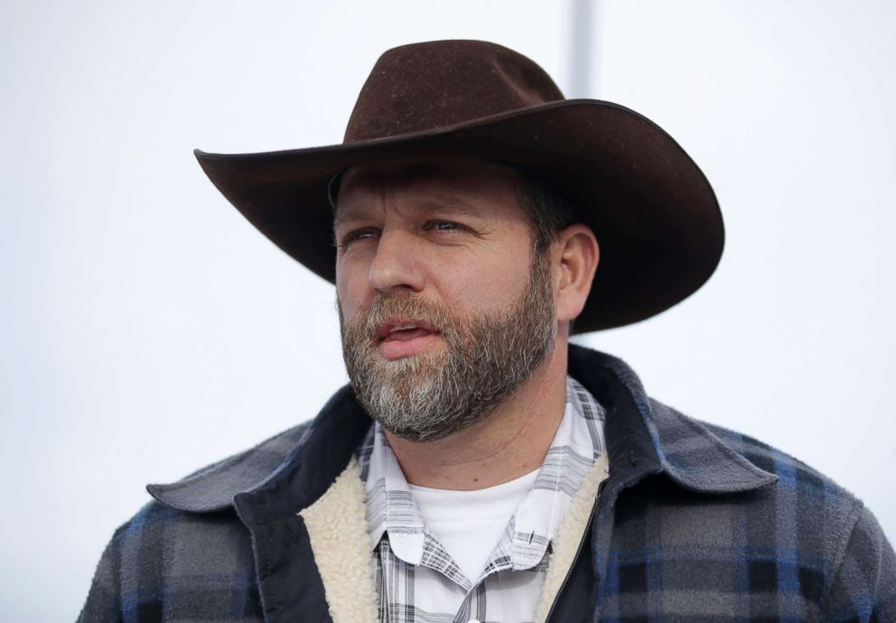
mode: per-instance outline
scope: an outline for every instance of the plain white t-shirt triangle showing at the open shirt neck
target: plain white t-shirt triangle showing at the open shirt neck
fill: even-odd
[[[428,527],[464,575],[476,581],[510,517],[538,476],[538,467],[518,479],[475,491],[407,488]]]

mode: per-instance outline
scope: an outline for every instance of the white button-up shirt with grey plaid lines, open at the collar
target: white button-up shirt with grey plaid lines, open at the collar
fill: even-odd
[[[466,577],[416,506],[377,424],[359,448],[370,544],[377,552],[380,620],[389,623],[528,621],[535,615],[548,545],[585,473],[605,451],[604,410],[567,377],[563,419],[537,478],[478,578]]]

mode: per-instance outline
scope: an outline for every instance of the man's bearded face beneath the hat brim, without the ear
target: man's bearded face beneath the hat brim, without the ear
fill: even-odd
[[[481,421],[553,348],[547,256],[515,173],[490,163],[364,166],[334,221],[352,386],[387,431],[434,441]]]

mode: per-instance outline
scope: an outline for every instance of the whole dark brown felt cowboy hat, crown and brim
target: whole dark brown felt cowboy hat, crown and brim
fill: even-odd
[[[535,62],[494,43],[387,51],[342,144],[196,157],[253,225],[330,282],[328,184],[351,166],[457,157],[536,172],[574,203],[601,245],[575,332],[666,310],[703,285],[722,255],[713,189],[671,136],[617,104],[565,99]]]

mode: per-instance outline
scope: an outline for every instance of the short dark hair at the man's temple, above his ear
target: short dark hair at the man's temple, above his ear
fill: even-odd
[[[560,237],[560,232],[582,220],[573,202],[536,174],[517,169],[517,201],[532,226],[533,246],[537,254]]]

